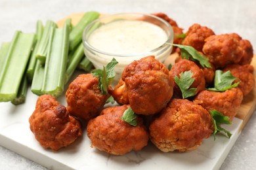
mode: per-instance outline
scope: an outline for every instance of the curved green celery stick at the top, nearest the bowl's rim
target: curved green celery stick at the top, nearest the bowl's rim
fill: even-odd
[[[75,47],[82,41],[83,30],[93,20],[96,20],[100,14],[95,11],[86,12],[78,24],[70,32],[70,50],[74,50]]]

